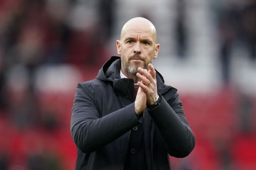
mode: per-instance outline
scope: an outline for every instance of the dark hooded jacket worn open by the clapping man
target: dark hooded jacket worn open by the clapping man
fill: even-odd
[[[130,130],[139,123],[148,169],[170,169],[168,154],[186,157],[195,146],[177,89],[166,86],[157,72],[157,90],[163,99],[143,112],[141,122],[134,111],[134,82],[121,79],[120,69],[120,57],[111,57],[96,79],[78,83],[71,116],[76,169],[123,169]]]

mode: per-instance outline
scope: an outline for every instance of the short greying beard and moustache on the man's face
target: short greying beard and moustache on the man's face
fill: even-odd
[[[133,58],[139,58],[141,61],[144,62],[144,64],[137,63],[137,62],[131,63],[131,60]],[[125,60],[124,56],[121,56],[121,63],[122,63],[122,66],[124,67],[124,70],[126,71],[126,73],[136,76],[136,74],[138,72],[137,71],[138,68],[141,67],[142,69],[148,70],[148,64],[151,63],[151,61],[146,61],[145,58],[142,58],[140,55],[135,54],[132,57],[128,58],[127,61]]]

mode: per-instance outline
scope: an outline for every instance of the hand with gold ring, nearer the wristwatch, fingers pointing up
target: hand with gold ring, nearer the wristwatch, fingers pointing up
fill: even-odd
[[[148,64],[148,68],[148,71],[138,68],[137,77],[141,80],[138,85],[147,96],[147,105],[153,105],[157,97],[156,71],[152,64]]]

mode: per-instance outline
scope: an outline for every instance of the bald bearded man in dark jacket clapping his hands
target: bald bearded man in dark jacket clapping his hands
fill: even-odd
[[[71,116],[76,169],[170,169],[168,154],[193,150],[177,89],[151,64],[156,41],[150,21],[129,20],[116,41],[121,58],[111,57],[96,79],[78,84]]]

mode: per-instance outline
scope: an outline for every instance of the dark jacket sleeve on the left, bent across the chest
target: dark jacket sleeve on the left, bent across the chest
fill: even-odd
[[[85,85],[85,86],[84,86]],[[71,135],[83,152],[93,152],[114,141],[140,120],[135,114],[134,103],[100,117],[89,83],[78,84],[71,115]]]

